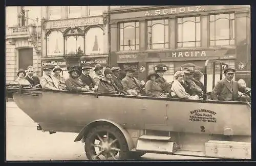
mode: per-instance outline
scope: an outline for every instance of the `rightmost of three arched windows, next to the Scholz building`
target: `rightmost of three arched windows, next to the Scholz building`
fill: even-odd
[[[103,53],[104,35],[100,27],[92,27],[86,33],[86,54]]]

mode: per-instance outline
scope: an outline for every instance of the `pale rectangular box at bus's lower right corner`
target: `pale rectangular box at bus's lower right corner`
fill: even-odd
[[[251,143],[210,140],[205,143],[205,155],[219,158],[251,159]]]

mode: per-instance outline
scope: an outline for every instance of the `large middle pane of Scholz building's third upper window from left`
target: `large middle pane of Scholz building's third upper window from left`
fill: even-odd
[[[185,22],[182,26],[182,41],[195,41],[196,39],[196,27],[195,22]]]

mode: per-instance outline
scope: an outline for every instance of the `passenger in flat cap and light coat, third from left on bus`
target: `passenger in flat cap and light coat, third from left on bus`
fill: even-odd
[[[42,69],[45,72],[45,74],[41,77],[40,80],[40,85],[42,89],[59,90],[58,82],[55,79],[53,79],[53,76],[51,75],[52,69],[53,67],[51,66],[45,66],[44,69]]]

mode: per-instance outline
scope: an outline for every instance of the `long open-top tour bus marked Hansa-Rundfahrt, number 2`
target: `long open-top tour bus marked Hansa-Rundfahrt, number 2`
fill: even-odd
[[[207,99],[208,63],[200,100],[74,93],[10,84],[6,91],[38,123],[38,130],[78,133],[74,141],[85,143],[88,159],[136,159],[147,152],[250,159],[250,102]],[[215,74],[213,77],[215,82]]]

